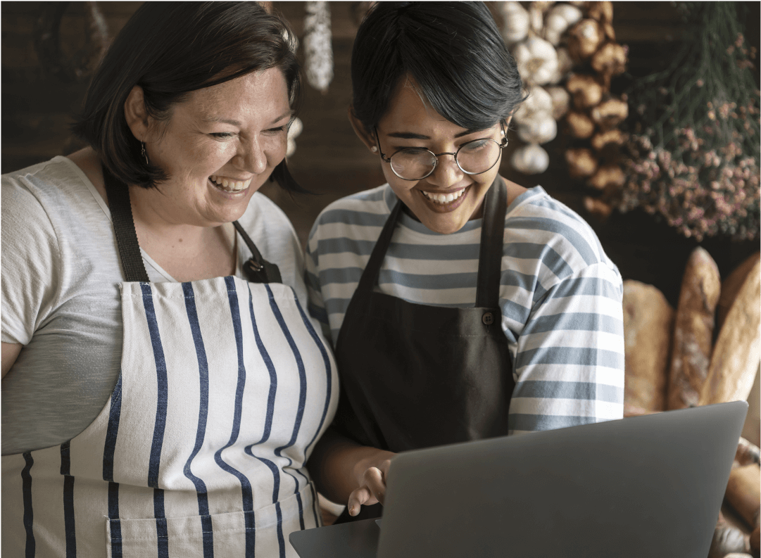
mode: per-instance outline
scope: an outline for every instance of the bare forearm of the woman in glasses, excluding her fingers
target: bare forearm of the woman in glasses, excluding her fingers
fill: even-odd
[[[307,468],[323,496],[336,503],[347,503],[352,491],[360,487],[365,471],[394,455],[359,445],[329,428],[315,445]]]

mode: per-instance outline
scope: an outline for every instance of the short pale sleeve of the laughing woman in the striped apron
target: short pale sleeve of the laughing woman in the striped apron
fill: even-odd
[[[59,243],[42,204],[17,179],[0,185],[0,340],[28,344],[56,306]]]

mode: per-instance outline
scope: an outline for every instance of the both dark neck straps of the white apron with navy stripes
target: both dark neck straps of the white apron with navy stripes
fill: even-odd
[[[129,203],[129,187],[103,168],[103,183],[106,186],[107,202],[111,211],[113,232],[116,246],[126,280],[148,283],[148,273],[140,255],[140,244],[135,233],[135,220],[132,218],[132,205]],[[251,257],[244,262],[243,271],[250,283],[282,283],[277,265],[267,262],[240,223],[233,221],[233,226],[251,252]]]

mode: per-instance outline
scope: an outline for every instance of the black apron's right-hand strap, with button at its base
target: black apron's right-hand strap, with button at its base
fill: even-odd
[[[505,212],[507,209],[508,189],[505,186],[505,181],[497,175],[483,201],[476,308],[497,308],[499,306],[502,243],[505,239]]]

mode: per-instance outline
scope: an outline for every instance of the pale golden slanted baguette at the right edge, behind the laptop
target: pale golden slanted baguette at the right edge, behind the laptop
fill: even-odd
[[[745,277],[718,333],[699,404],[745,401],[761,358],[761,260]]]

